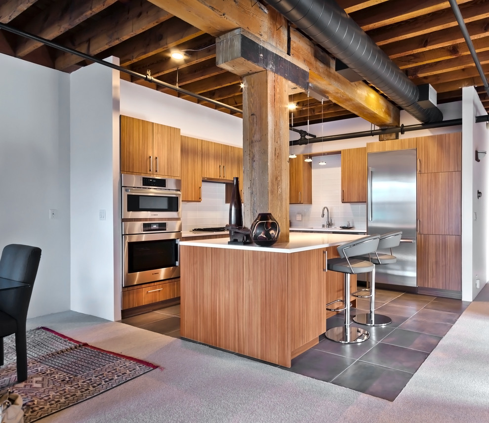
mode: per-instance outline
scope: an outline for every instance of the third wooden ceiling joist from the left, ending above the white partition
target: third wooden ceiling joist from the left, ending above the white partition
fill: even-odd
[[[93,56],[153,28],[170,17],[170,13],[148,1],[121,4],[117,13],[114,12],[103,20],[91,22],[91,25],[76,35],[66,37],[62,43]],[[64,70],[79,61],[80,57],[63,52],[56,58],[55,67]]]

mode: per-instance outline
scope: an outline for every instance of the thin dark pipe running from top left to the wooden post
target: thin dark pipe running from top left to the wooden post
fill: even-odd
[[[78,50],[74,50],[73,48],[65,47],[63,45],[57,44],[55,42],[52,42],[51,40],[46,40],[45,38],[38,37],[37,35],[30,34],[28,32],[12,28],[12,27],[5,25],[5,24],[2,24],[2,23],[0,23],[0,29],[3,29],[5,31],[11,32],[11,33],[16,34],[16,35],[20,35],[21,37],[25,37],[25,38],[29,38],[29,39],[37,41],[37,42],[41,42],[43,44],[49,45],[50,47],[54,47],[54,48],[57,48],[58,50],[64,51],[66,53],[74,54],[75,56],[82,57],[85,60],[90,60],[92,62],[98,63],[100,65],[107,66],[108,68],[115,69],[117,71],[123,72],[123,73],[131,75],[133,77],[140,78],[142,80],[155,83],[156,85],[164,86],[165,88],[172,89],[174,91],[180,92],[181,94],[190,95],[191,97],[197,98],[197,99],[202,100],[202,101],[206,101],[208,103],[212,103],[218,107],[224,107],[228,110],[231,110],[232,112],[243,113],[243,110],[240,110],[236,107],[229,106],[228,104],[221,103],[220,101],[212,100],[211,98],[204,97],[202,95],[196,94],[195,92],[187,91],[186,89],[180,88],[176,85],[167,84],[163,81],[160,81],[160,80],[153,78],[149,74],[143,75],[143,74],[140,74],[138,72],[134,72],[134,71],[131,71],[129,69],[125,69],[122,66],[115,65],[114,63],[106,62],[105,60],[97,59],[96,57],[82,53],[81,51],[78,51]]]

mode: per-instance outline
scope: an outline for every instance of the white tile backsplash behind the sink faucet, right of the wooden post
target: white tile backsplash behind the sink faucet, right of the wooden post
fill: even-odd
[[[293,228],[307,228],[326,224],[321,217],[323,207],[329,209],[332,226],[344,226],[350,221],[356,229],[367,228],[365,203],[341,203],[341,155],[332,154],[312,158],[312,204],[291,204],[290,222]],[[291,159],[298,160],[298,159]],[[324,160],[326,165],[319,165]],[[296,220],[302,214],[302,220]]]

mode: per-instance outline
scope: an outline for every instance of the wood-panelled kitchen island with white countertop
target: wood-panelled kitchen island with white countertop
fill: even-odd
[[[327,258],[361,237],[290,233],[271,247],[182,241],[181,336],[290,367],[326,331],[326,303],[344,295],[343,274],[326,272]]]

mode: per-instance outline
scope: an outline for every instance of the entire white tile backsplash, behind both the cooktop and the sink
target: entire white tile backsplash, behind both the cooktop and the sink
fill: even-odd
[[[339,154],[312,158],[313,204],[291,204],[289,209],[291,227],[307,228],[326,223],[321,217],[323,207],[329,209],[332,226],[343,226],[348,221],[356,229],[367,228],[365,203],[341,203],[341,156]],[[321,160],[326,165],[320,166]],[[299,159],[292,159],[299,160]],[[229,204],[224,202],[225,185],[218,182],[202,182],[201,202],[182,202],[182,230],[197,227],[224,226],[229,221]],[[295,215],[302,214],[297,221]]]

